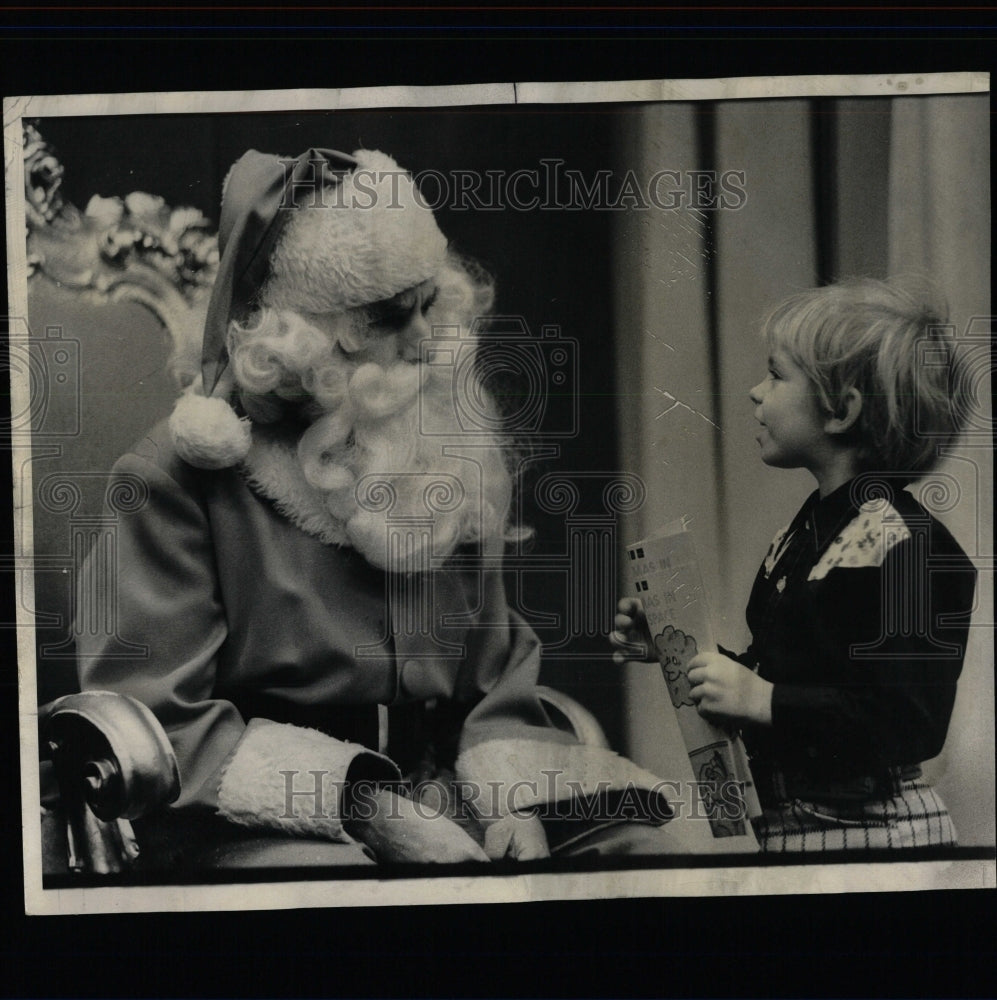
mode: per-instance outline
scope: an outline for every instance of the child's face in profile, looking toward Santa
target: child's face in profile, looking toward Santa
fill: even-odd
[[[813,385],[779,348],[773,348],[768,365],[766,378],[749,392],[755,419],[762,425],[757,435],[762,461],[781,469],[813,471],[828,439]]]

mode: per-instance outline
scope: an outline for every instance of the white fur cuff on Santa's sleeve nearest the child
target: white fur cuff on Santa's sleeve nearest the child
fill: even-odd
[[[517,810],[607,792],[663,794],[657,775],[612,750],[544,740],[486,740],[461,752],[456,773],[480,791],[486,823]]]

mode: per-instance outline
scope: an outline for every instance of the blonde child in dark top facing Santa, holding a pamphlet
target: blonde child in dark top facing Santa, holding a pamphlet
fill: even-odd
[[[919,765],[945,742],[975,569],[903,489],[959,431],[945,320],[898,282],[856,280],[794,295],[764,325],[761,458],[817,490],[758,571],[748,650],[689,663],[699,712],[742,731],[764,850],[955,843]],[[646,631],[638,601],[616,628],[622,661]]]

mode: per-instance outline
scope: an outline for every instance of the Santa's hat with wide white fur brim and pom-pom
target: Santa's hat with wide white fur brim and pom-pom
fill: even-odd
[[[257,306],[331,314],[389,299],[436,274],[447,248],[412,177],[363,149],[293,160],[250,150],[225,180],[218,241],[201,378],[170,417],[177,453],[201,469],[235,465],[251,444],[249,418],[228,402],[232,319]]]

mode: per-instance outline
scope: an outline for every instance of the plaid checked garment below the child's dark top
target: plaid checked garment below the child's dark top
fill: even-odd
[[[761,849],[773,852],[956,844],[948,809],[923,778],[903,782],[892,798],[846,804],[793,799],[765,809],[754,828]]]

